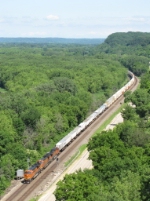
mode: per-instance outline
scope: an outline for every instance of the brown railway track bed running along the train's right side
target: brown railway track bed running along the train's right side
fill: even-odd
[[[135,82],[130,88],[134,91],[138,85],[138,79],[135,77]],[[64,163],[68,160],[68,156],[73,155],[76,150],[82,145],[88,142],[88,139],[92,136],[100,125],[102,125],[106,119],[114,113],[119,107],[120,103],[124,101],[124,97],[121,96],[116,102],[112,104],[99,118],[97,118],[82,134],[74,140],[59,156],[59,163]],[[39,185],[44,185],[45,180],[48,175],[52,174],[57,167],[56,161],[53,161],[40,175],[38,175],[35,180],[30,184],[22,184],[14,193],[10,195],[7,199],[2,199],[4,201],[28,201],[31,199],[30,195],[36,192]]]

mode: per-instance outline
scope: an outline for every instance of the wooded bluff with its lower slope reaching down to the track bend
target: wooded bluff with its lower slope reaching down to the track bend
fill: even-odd
[[[100,46],[100,52],[116,55],[126,68],[140,76],[150,61],[150,33],[114,33]]]

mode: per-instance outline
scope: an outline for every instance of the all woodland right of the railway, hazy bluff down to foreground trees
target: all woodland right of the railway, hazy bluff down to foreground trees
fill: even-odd
[[[110,56],[141,76],[140,88],[125,94],[124,123],[97,133],[88,143],[93,170],[67,175],[58,183],[56,200],[150,200],[150,33],[116,33],[100,45]],[[67,193],[70,192],[70,193]]]

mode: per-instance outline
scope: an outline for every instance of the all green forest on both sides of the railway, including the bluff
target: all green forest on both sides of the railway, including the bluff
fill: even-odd
[[[141,88],[126,95],[136,108],[127,106],[123,124],[89,142],[94,169],[65,177],[56,198],[148,200],[149,46],[150,34],[131,32],[99,45],[0,43],[0,194],[28,158],[36,162],[121,88],[129,69],[141,76]]]

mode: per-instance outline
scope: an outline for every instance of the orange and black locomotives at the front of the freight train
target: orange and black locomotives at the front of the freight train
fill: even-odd
[[[34,178],[36,178],[43,169],[45,169],[57,156],[59,155],[59,149],[53,148],[50,152],[45,154],[37,163],[32,165],[24,173],[24,182],[30,183]]]

